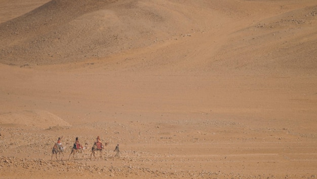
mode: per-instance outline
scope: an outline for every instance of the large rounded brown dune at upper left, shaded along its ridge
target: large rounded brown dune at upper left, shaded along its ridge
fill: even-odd
[[[181,4],[174,6],[176,9]],[[36,65],[105,57],[170,38],[191,23],[168,4],[51,1],[1,24],[2,60]]]

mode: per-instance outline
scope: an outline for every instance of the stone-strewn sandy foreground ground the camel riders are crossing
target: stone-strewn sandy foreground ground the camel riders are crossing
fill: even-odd
[[[245,128],[244,123],[216,120],[129,123],[101,123],[110,127],[103,136],[108,145],[101,158],[97,152],[97,158],[92,159],[90,147],[95,136],[91,133],[102,128],[96,124],[48,129],[1,127],[3,178],[25,173],[26,178],[55,177],[49,173],[65,178],[315,178],[317,136],[313,133],[297,133],[277,125]],[[169,125],[173,128],[168,129]],[[76,130],[82,131],[80,141],[89,145],[84,154],[73,158],[69,156],[74,138],[71,133]],[[58,160],[51,155],[56,133],[66,134],[62,139],[65,151],[57,155]],[[119,157],[113,151],[116,143],[120,143]]]

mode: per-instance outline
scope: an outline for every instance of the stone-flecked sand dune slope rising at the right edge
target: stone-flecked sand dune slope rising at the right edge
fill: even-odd
[[[252,23],[230,35],[220,66],[266,73],[311,74],[316,69],[315,10],[305,7]],[[248,35],[246,35],[248,34]]]

